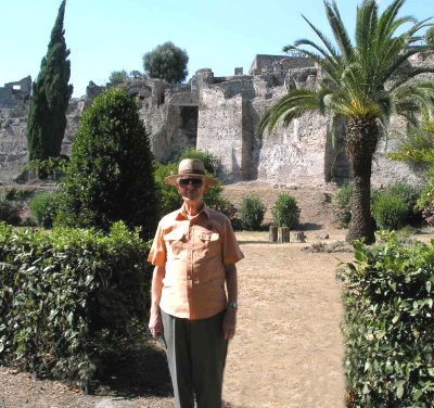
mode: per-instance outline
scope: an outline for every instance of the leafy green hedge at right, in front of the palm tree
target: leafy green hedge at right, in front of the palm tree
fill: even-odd
[[[346,264],[347,406],[432,407],[434,242],[381,233]]]

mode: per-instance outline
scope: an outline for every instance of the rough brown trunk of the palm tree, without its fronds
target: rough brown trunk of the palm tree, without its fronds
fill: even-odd
[[[375,118],[356,118],[348,123],[347,154],[353,173],[352,220],[347,242],[363,239],[365,243],[375,241],[371,215],[372,157],[379,140]]]

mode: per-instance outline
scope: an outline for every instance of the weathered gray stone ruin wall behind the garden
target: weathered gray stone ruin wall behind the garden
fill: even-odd
[[[334,148],[327,118],[306,114],[288,128],[279,126],[272,136],[257,136],[261,115],[285,94],[290,84],[315,87],[320,80],[321,73],[308,59],[293,62],[295,67],[288,58],[257,55],[251,75],[243,75],[237,68],[238,75],[214,77],[205,68],[197,71],[189,85],[170,87],[150,79],[125,86],[140,101],[139,112],[150,133],[152,150],[163,162],[176,160],[187,148],[196,146],[219,158],[219,176],[228,182],[258,179],[293,187],[342,182],[349,177],[348,161],[342,149],[343,128],[341,143]],[[71,101],[63,153],[71,152],[80,115],[101,90],[90,82],[86,98]],[[26,164],[27,114],[28,104],[0,109],[0,181],[10,182]],[[395,129],[403,128],[396,118],[392,125]],[[384,141],[380,143],[373,163],[374,186],[396,180],[420,181],[407,166],[385,157],[395,144],[393,138],[387,145]]]

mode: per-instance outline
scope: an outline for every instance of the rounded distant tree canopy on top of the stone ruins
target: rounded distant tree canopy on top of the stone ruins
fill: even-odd
[[[187,78],[188,62],[187,52],[170,41],[143,55],[144,72],[151,78],[165,79],[170,84],[182,82]]]

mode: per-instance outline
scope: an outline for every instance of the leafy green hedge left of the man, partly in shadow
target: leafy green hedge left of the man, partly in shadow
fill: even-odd
[[[122,222],[108,234],[0,224],[0,364],[91,386],[144,334],[148,251]]]

